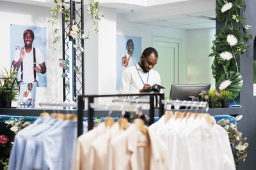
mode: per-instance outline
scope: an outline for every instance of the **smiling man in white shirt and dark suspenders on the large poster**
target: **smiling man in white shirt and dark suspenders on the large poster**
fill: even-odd
[[[46,73],[46,66],[42,52],[32,46],[34,32],[26,29],[23,33],[23,40],[25,44],[24,49],[17,49],[15,51],[12,66],[19,74],[22,73],[19,81],[31,83],[38,81],[38,73]]]

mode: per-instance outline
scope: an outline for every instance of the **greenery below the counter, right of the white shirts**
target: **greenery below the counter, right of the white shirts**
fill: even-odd
[[[246,143],[247,138],[242,138],[242,132],[237,131],[236,123],[233,124],[227,118],[223,118],[218,121],[225,131],[227,131],[230,144],[235,150],[232,150],[235,163],[238,164],[240,160],[245,161],[247,157],[246,148],[248,143]]]

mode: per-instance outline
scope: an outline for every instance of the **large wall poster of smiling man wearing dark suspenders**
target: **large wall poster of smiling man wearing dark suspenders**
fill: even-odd
[[[10,63],[18,71],[18,81],[46,87],[46,27],[11,24],[10,29]]]

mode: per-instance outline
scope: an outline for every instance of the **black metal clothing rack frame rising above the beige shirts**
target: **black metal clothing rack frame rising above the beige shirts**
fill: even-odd
[[[159,96],[160,101],[164,99],[164,94],[158,93],[141,93],[141,94],[106,94],[106,95],[84,95],[77,96],[77,137],[83,134],[83,109],[84,109],[84,98],[88,98],[88,131],[93,129],[93,117],[94,109],[91,107],[95,97],[127,97],[127,96],[149,96],[149,124],[154,123],[154,96]],[[162,116],[164,113],[164,104],[159,105],[159,114]]]

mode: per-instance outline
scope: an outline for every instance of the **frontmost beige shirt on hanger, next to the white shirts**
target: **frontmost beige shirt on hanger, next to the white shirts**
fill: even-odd
[[[137,147],[138,139],[143,136],[135,125],[111,140],[109,146],[108,170],[168,170],[167,149],[161,139],[149,134],[150,145],[145,152],[145,161],[141,161],[141,148]],[[147,148],[147,147],[145,147]],[[143,166],[143,169],[141,169]]]

